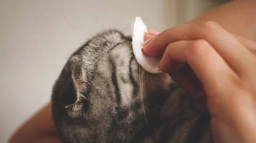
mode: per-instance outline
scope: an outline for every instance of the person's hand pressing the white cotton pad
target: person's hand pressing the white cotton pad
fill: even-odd
[[[148,39],[151,38],[152,39]],[[255,143],[256,43],[214,22],[145,34],[143,51],[211,114],[215,143]],[[188,66],[176,69],[180,63]]]

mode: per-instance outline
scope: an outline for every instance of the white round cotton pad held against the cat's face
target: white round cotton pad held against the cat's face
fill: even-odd
[[[148,73],[163,73],[159,71],[158,64],[161,57],[148,56],[143,53],[144,34],[148,33],[147,27],[140,17],[136,17],[131,23],[132,48],[135,59]]]

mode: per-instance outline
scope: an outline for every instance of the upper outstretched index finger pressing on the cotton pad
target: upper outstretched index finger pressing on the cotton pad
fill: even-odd
[[[245,48],[233,34],[225,31],[221,26],[206,22],[202,25],[180,25],[156,35],[143,50],[151,56],[163,54],[166,46],[179,40],[204,39],[223,57],[225,61],[238,73],[246,73],[244,69],[254,66],[255,56]],[[231,49],[232,48],[232,49]]]

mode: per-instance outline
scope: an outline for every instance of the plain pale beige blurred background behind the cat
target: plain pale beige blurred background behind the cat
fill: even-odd
[[[162,31],[215,6],[207,0],[0,0],[0,143],[49,102],[68,56],[107,28],[141,16]]]

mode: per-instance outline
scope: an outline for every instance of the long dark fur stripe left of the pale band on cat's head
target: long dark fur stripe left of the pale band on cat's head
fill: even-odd
[[[109,57],[108,61],[110,63],[111,70],[112,70],[111,79],[112,79],[112,82],[113,82],[113,85],[114,85],[114,88],[115,88],[116,103],[119,107],[120,102],[121,102],[121,95],[120,95],[120,92],[119,92],[119,87],[118,87],[118,83],[117,83],[117,79],[116,79],[116,64],[115,64],[115,62],[113,61],[113,59],[111,57]]]

